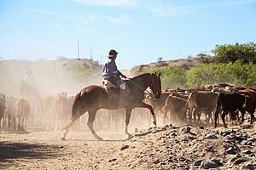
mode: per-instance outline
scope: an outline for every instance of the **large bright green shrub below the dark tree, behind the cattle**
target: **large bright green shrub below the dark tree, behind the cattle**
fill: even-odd
[[[245,65],[240,59],[235,63],[196,65],[186,73],[186,78],[191,88],[213,83],[252,87],[256,84],[256,65]]]

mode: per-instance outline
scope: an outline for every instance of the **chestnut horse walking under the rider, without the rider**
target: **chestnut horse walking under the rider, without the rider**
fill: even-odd
[[[125,105],[118,105],[118,100],[113,101],[113,99],[109,97],[106,90],[101,86],[91,85],[79,91],[79,93],[73,100],[72,116],[69,122],[67,122],[67,125],[65,127],[62,127],[61,129],[66,130],[64,136],[61,139],[66,139],[69,127],[73,125],[73,122],[75,122],[79,118],[79,116],[82,116],[85,112],[88,111],[89,117],[87,125],[90,128],[90,132],[95,136],[96,139],[102,140],[102,138],[99,137],[93,129],[93,121],[96,116],[96,111],[102,108],[107,110],[117,110],[119,108],[125,108],[125,134],[128,135],[128,138],[131,137],[131,134],[128,133],[127,130],[128,124],[130,122],[131,111],[136,107],[148,108],[153,116],[153,123],[154,125],[156,125],[156,118],[153,108],[151,105],[144,103],[143,99],[144,91],[148,87],[151,89],[155,99],[160,98],[160,73],[145,73],[126,80],[125,82],[130,89],[129,96],[125,96],[125,100],[127,101]]]

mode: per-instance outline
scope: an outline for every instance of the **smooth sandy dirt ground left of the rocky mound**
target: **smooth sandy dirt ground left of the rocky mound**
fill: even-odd
[[[89,132],[71,131],[67,141],[61,132],[28,129],[29,133],[0,134],[2,169],[98,169],[108,164],[124,143],[124,133],[98,132],[113,141],[96,141]]]

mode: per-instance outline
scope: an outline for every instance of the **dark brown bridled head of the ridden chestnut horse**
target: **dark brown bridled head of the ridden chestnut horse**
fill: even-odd
[[[155,99],[160,98],[161,94],[161,80],[160,80],[161,73],[152,73],[151,74],[151,84],[149,88],[152,90]]]

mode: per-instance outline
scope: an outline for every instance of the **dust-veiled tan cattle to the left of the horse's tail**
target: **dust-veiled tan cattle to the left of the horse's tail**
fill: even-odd
[[[34,98],[0,96],[0,126],[15,131],[26,131],[27,126],[59,128],[60,123],[69,116],[72,105],[72,99],[68,99],[64,92]]]

